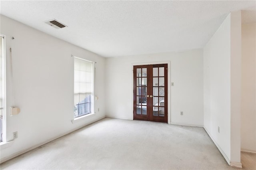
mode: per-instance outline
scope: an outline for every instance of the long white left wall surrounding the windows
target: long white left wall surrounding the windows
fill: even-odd
[[[6,36],[7,49],[6,141],[12,140],[12,132],[18,131],[18,138],[11,146],[1,146],[1,161],[105,117],[105,58],[5,16],[0,17],[0,34]],[[10,47],[15,105],[21,109],[19,115],[12,117],[9,109],[13,105]],[[100,112],[74,124],[71,122],[74,118],[74,61],[71,54],[97,62],[95,95],[99,99],[95,105],[100,108]]]

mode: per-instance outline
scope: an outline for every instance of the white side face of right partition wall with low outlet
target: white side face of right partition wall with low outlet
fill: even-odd
[[[230,159],[230,15],[204,47],[204,127]]]

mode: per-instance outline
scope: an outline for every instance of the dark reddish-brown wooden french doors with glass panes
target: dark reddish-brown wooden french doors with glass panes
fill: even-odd
[[[168,122],[168,64],[134,65],[133,119]]]

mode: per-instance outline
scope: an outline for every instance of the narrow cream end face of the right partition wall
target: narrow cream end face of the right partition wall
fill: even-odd
[[[230,165],[241,162],[241,36],[239,10],[230,13]]]

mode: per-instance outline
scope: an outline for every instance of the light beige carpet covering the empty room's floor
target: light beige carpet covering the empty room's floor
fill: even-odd
[[[1,169],[235,169],[204,128],[105,118]]]

